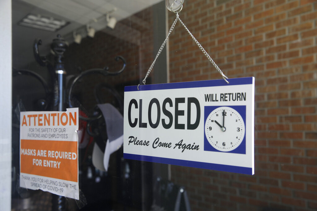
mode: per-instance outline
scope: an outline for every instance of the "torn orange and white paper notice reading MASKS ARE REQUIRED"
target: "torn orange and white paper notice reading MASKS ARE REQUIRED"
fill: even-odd
[[[78,108],[21,112],[20,187],[79,199]]]

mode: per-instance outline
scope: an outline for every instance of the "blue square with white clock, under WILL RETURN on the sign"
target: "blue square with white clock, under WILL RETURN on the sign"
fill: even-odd
[[[204,107],[204,151],[245,154],[246,106]]]

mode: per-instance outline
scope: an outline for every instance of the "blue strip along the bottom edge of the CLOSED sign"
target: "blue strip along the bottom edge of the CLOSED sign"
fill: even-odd
[[[227,172],[232,172],[232,173],[252,175],[252,168],[233,166],[233,165],[204,163],[204,162],[198,162],[198,161],[179,160],[179,159],[173,159],[173,158],[160,158],[160,157],[152,157],[152,156],[146,156],[146,155],[135,155],[135,154],[128,154],[128,153],[123,153],[123,158],[140,160],[140,161],[148,161],[148,162],[154,162],[154,163],[181,165],[181,166],[195,167],[195,168],[201,168],[201,169],[210,169],[210,170],[216,170],[216,171],[227,171]]]

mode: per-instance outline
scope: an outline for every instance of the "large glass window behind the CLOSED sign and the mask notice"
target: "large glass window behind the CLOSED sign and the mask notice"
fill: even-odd
[[[177,2],[177,1],[175,1]],[[124,115],[176,14],[165,1],[12,1],[12,210],[316,210],[313,0],[191,0],[179,18],[230,78],[255,77],[255,174],[123,158]],[[146,84],[222,79],[178,21]],[[79,108],[80,199],[19,187],[20,112]],[[112,129],[115,130],[115,129]],[[127,140],[123,140],[124,143]],[[221,159],[221,157],[219,157]]]

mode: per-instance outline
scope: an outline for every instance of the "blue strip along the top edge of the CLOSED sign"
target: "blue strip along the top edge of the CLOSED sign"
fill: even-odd
[[[138,86],[126,86],[124,91],[146,91],[146,90],[168,90],[168,89],[183,89],[183,88],[196,88],[196,87],[212,87],[212,86],[232,86],[252,84],[253,77],[246,78],[231,78],[227,79],[229,84],[223,79],[207,80],[207,81],[190,81],[190,82],[178,82],[168,84],[148,84]]]

